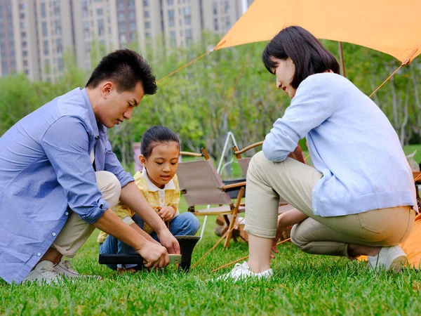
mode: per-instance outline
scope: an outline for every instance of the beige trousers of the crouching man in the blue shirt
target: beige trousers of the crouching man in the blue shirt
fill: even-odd
[[[111,209],[119,201],[121,184],[116,176],[108,171],[97,171],[95,176],[102,199],[107,201]],[[73,258],[93,230],[95,230],[94,225],[86,223],[77,213],[72,212],[51,246],[63,256]]]

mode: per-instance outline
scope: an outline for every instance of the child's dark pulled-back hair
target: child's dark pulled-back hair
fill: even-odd
[[[180,148],[180,139],[171,129],[159,125],[152,126],[143,134],[140,152],[143,154],[143,157],[148,159],[156,145],[172,142],[177,143],[178,148]]]

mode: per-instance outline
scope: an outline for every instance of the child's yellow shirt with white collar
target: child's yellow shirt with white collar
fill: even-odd
[[[159,207],[173,206],[173,209],[175,209],[174,217],[178,216],[180,187],[178,185],[177,175],[175,175],[163,189],[159,189],[159,187],[156,187],[156,185],[149,180],[146,169],[143,169],[142,172],[136,172],[133,178],[135,179],[135,184],[138,186],[140,192],[142,192],[142,195],[145,197],[149,205],[152,206],[152,209],[158,211]],[[123,220],[124,223],[128,225],[135,223],[132,219],[132,216],[135,215],[135,213],[131,211],[128,206],[121,204],[121,202],[118,202],[116,206],[114,206],[113,211]],[[145,230],[148,234],[153,232],[152,228],[150,228],[146,223],[143,230]],[[102,244],[102,242],[105,242],[107,236],[108,234],[106,232],[100,232],[97,242]]]

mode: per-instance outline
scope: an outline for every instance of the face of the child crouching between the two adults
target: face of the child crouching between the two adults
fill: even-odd
[[[152,143],[151,145],[154,146],[151,155],[146,159],[141,154],[140,163],[146,168],[149,180],[163,189],[177,172],[180,148],[175,142]]]

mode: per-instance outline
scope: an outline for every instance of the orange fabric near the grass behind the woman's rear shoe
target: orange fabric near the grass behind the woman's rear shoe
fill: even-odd
[[[415,217],[415,223],[412,232],[408,238],[401,246],[402,250],[405,251],[406,256],[408,257],[407,265],[410,268],[420,269],[421,268],[421,247],[420,247],[420,240],[421,240],[421,214],[418,214]],[[366,261],[367,256],[359,256],[359,261]]]

